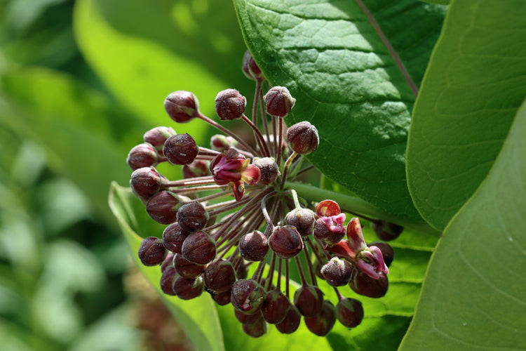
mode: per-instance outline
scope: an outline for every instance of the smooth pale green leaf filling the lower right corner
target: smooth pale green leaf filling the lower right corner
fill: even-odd
[[[526,103],[476,193],[447,226],[400,350],[524,350]]]

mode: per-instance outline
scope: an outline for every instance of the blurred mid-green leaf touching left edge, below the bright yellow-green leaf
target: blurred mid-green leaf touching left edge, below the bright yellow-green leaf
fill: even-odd
[[[128,181],[126,154],[140,143],[145,124],[67,74],[32,67],[0,79],[7,104],[0,124],[45,147],[50,165],[114,223],[108,187],[112,180]]]

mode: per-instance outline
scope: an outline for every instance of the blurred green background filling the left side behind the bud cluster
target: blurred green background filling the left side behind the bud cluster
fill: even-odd
[[[191,350],[107,194],[149,128],[213,133],[175,126],[171,91],[250,100],[245,50],[228,1],[0,1],[0,350]]]

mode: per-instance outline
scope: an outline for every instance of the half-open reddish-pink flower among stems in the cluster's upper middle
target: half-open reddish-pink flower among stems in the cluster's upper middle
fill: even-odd
[[[223,154],[218,154],[210,164],[212,178],[217,185],[229,184],[234,190],[234,197],[239,201],[245,193],[245,185],[255,185],[261,178],[261,171],[250,164],[238,150],[230,148]]]

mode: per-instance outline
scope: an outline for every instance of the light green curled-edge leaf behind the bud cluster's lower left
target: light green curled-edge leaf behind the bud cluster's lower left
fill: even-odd
[[[161,294],[165,305],[177,318],[196,350],[224,350],[221,326],[215,305],[210,296],[201,295],[193,300],[184,301],[174,296],[167,296],[162,293],[159,286],[159,280],[161,279],[159,267],[146,267],[140,263],[137,251],[139,251],[142,237],[136,232],[137,218],[135,218],[133,208],[137,202],[139,201],[131,193],[130,189],[119,187],[116,183],[112,183],[109,193],[109,206],[119,221],[134,262],[156,291]],[[149,236],[157,233],[162,234],[162,230],[149,232]]]

